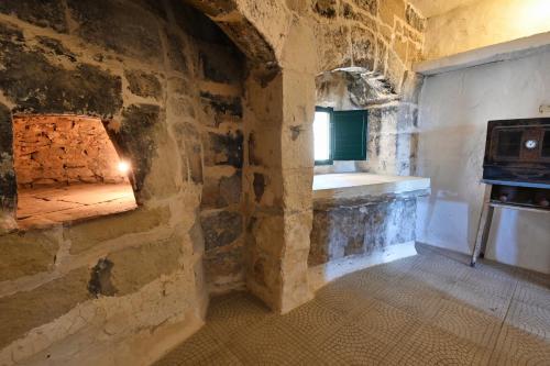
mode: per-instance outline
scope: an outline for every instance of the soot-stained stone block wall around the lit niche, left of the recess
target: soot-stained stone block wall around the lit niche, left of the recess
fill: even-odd
[[[0,4],[1,365],[148,364],[202,323],[202,185],[240,149],[210,108],[240,91],[216,64],[231,52],[219,34],[193,33],[197,14],[180,1]],[[13,117],[64,113],[106,123],[140,207],[16,231]]]

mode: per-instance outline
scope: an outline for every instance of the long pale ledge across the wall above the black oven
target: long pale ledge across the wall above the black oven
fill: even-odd
[[[413,70],[425,76],[527,57],[550,49],[550,32],[472,49],[415,64]]]

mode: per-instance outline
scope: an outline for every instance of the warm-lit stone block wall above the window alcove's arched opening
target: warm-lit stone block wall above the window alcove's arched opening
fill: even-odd
[[[319,71],[363,67],[383,75],[396,93],[410,89],[411,65],[421,59],[426,29],[426,20],[410,3],[316,0],[312,10]]]

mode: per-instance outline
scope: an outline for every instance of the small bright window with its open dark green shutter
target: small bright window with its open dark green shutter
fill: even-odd
[[[365,160],[366,120],[366,111],[333,111],[318,107],[314,120],[316,165]]]

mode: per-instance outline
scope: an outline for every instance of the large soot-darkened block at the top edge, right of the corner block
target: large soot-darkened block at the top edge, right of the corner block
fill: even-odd
[[[86,41],[127,56],[162,60],[155,16],[129,2],[67,0],[78,34]]]

